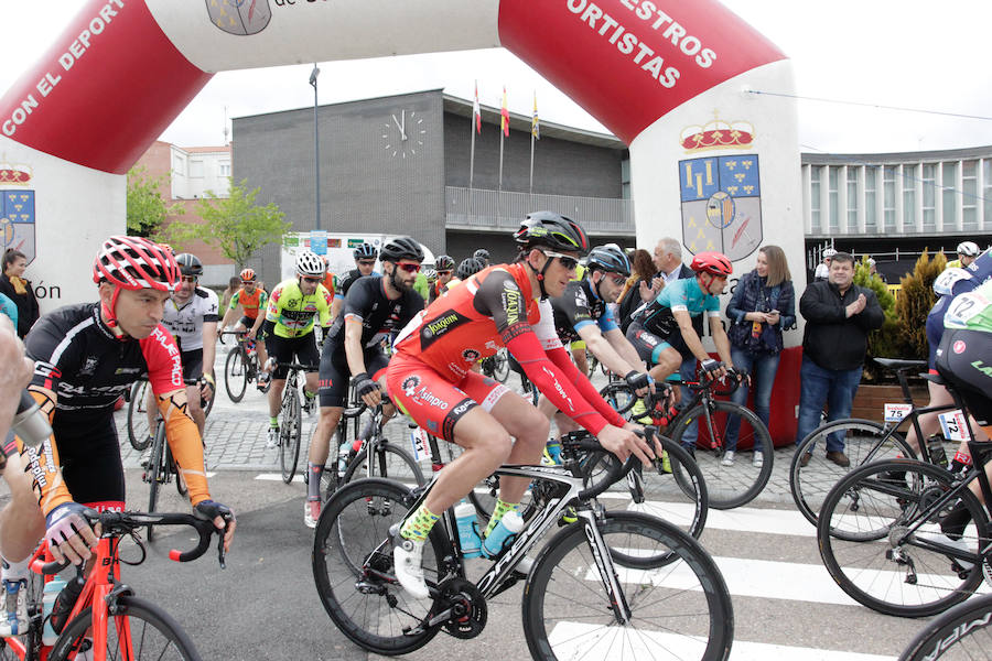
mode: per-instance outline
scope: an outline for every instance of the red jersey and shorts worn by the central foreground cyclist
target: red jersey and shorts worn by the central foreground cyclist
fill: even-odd
[[[592,433],[606,424],[623,426],[623,418],[603,401],[557,342],[550,305],[535,299],[525,269],[517,263],[481,271],[420,312],[397,338],[387,375],[389,392],[432,433],[451,440],[454,423],[476,402],[488,410],[503,395],[505,389],[495,381],[470,371],[479,358],[502,346],[517,358],[538,390]],[[553,343],[542,344],[533,328],[539,323],[550,328],[543,333]]]

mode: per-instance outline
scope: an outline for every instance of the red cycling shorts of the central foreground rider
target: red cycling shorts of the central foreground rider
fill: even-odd
[[[489,412],[509,388],[470,371],[452,383],[433,367],[413,356],[395,354],[386,369],[389,397],[399,409],[429,433],[454,442],[459,420],[475,407]]]

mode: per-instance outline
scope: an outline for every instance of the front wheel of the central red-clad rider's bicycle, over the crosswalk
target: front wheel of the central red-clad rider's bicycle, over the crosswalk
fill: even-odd
[[[524,587],[524,635],[533,659],[646,658],[722,660],[734,615],[713,559],[675,525],[635,512],[607,511],[596,522],[632,618],[619,625],[600,578],[585,522],[559,532],[541,551]],[[666,557],[666,563],[647,559]],[[666,650],[667,654],[659,654]]]

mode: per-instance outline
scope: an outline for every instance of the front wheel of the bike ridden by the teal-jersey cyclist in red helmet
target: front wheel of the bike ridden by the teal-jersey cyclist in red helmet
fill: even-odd
[[[772,477],[772,467],[775,460],[775,452],[772,444],[772,436],[765,424],[748,409],[734,402],[711,401],[709,411],[707,404],[699,404],[682,413],[676,421],[675,429],[671,430],[671,438],[680,446],[682,435],[690,424],[699,423],[699,440],[696,448],[696,463],[699,465],[703,477],[707,481],[707,491],[710,497],[710,507],[713,509],[731,509],[741,507],[754,500],[762,492],[768,478]],[[735,414],[741,416],[741,434],[737,440],[737,447],[757,447],[762,448],[764,462],[761,466],[754,466],[751,457],[742,456],[737,452],[737,457],[730,466],[723,465],[723,429],[726,425],[726,416]],[[710,449],[701,445],[710,440],[716,440],[716,448]],[[688,475],[684,470],[677,470],[672,466],[676,479],[679,484],[688,488]]]

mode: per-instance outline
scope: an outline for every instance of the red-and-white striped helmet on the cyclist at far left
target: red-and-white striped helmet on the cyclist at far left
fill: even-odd
[[[107,281],[120,289],[153,289],[171,292],[180,279],[172,253],[142,237],[110,237],[93,262],[93,281]]]

